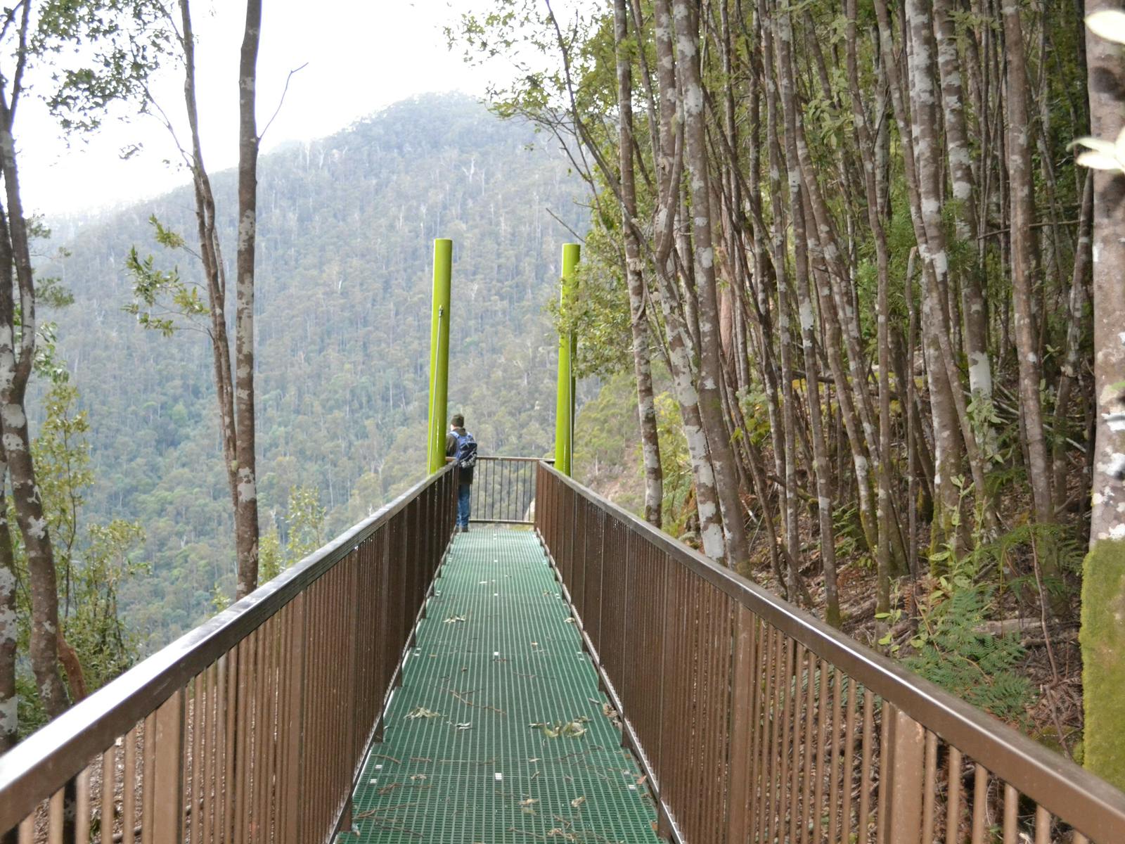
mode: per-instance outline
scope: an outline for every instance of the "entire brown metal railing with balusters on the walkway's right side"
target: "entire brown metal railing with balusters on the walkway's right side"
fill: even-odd
[[[1069,760],[552,468],[538,490],[536,528],[663,834],[1125,841],[1125,794]]]

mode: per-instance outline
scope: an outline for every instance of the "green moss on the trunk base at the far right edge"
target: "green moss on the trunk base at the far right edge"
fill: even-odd
[[[1084,764],[1125,788],[1125,541],[1095,542],[1082,569]]]

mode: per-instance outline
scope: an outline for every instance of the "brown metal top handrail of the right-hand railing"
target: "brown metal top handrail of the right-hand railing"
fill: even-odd
[[[544,469],[608,514],[626,522],[764,621],[970,755],[1040,806],[1095,839],[1125,829],[1125,793],[900,664],[771,594],[736,572],[657,530],[551,466]],[[629,713],[624,712],[628,719]]]

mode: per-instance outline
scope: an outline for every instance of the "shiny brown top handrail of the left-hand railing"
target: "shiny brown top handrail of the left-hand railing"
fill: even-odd
[[[0,830],[19,823],[29,806],[54,793],[92,756],[226,654],[452,468],[446,466],[420,481],[375,514],[0,755]]]

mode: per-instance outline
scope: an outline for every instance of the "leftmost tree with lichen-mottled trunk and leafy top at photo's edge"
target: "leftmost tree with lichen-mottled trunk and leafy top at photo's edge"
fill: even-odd
[[[19,180],[17,117],[42,97],[64,132],[98,128],[114,101],[138,96],[166,46],[160,9],[150,0],[21,0],[0,15],[0,492],[10,493],[28,573],[28,661],[46,712],[69,706],[81,666],[62,636],[55,554],[37,483],[26,395],[36,363],[37,289],[30,225]],[[0,504],[3,504],[0,501]],[[7,506],[0,513],[7,513]],[[0,529],[0,751],[16,736],[12,536]]]

